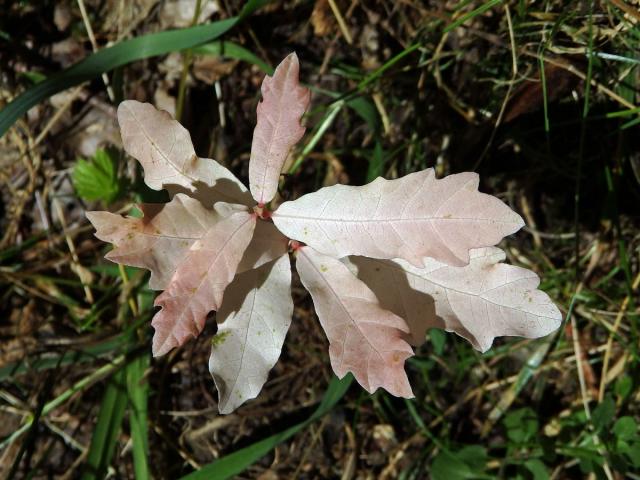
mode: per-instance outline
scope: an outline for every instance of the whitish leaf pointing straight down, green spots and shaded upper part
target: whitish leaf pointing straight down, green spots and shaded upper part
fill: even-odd
[[[280,357],[292,314],[288,254],[237,275],[227,287],[209,358],[220,413],[258,396]]]

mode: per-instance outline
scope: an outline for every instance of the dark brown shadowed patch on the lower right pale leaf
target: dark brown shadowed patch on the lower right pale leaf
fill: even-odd
[[[422,345],[428,329],[444,328],[444,322],[436,315],[433,297],[416,290],[407,273],[392,260],[354,256],[343,258],[342,262],[367,284],[382,308],[405,319],[411,345]]]

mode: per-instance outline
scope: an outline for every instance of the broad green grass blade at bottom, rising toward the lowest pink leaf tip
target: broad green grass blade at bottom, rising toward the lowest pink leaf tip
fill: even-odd
[[[329,384],[320,405],[318,405],[318,408],[307,420],[289,427],[280,433],[271,435],[264,440],[260,440],[253,445],[238,450],[237,452],[222,457],[219,460],[202,467],[197,472],[182,477],[183,480],[223,480],[237,475],[269,453],[278,444],[284,442],[310,423],[327,414],[344,396],[344,394],[347,393],[352,381],[353,376],[351,374],[346,375],[342,379],[334,377]]]

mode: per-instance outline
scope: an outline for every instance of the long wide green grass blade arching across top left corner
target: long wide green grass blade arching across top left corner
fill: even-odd
[[[143,35],[89,55],[81,62],[34,85],[9,103],[0,112],[0,136],[31,107],[44,99],[136,60],[165,55],[215,40],[266,3],[267,0],[249,0],[237,17],[181,30]]]

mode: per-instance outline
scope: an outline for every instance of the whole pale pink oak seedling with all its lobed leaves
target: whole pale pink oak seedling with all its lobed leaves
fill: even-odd
[[[286,156],[304,133],[309,91],[298,76],[292,54],[264,79],[251,193],[226,168],[198,158],[168,113],[120,105],[125,149],[142,164],[147,185],[167,189],[172,200],[140,206],[140,219],[87,217],[98,238],[114,244],[108,259],[151,270],[151,288],[164,290],[152,320],[154,355],[199,335],[207,314],[218,311],[209,367],[220,412],[255,397],[291,322],[289,245],[329,338],[333,370],[353,372],[369,392],[413,395],[404,363],[413,355],[409,342],[420,345],[427,328],[455,331],[480,350],[495,336],[557,328],[560,312],[537,290],[538,277],[500,263],[504,254],[491,247],[523,222],[478,192],[476,174],[436,179],[425,170],[336,185],[270,212]]]

